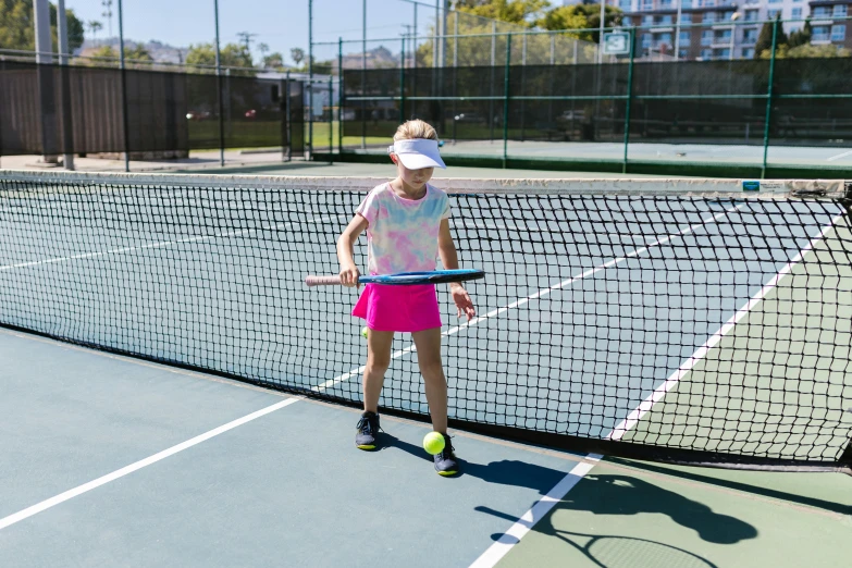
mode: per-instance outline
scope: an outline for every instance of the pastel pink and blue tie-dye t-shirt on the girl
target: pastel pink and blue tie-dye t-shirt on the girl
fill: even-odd
[[[449,218],[447,194],[427,184],[422,198],[405,199],[386,183],[373,188],[356,213],[369,223],[370,274],[435,270],[441,220]]]

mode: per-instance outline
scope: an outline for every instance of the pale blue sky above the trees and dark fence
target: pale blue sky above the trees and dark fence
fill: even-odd
[[[55,3],[55,0],[51,0]],[[84,23],[97,20],[103,24],[97,39],[109,36],[108,18],[102,15],[102,0],[65,0],[65,8]],[[421,0],[434,7],[435,0]],[[112,2],[112,36],[119,35],[118,0]],[[156,39],[174,47],[212,42],[215,38],[213,0],[123,0],[124,37],[134,41]],[[313,40],[337,41],[361,38],[363,0],[313,0]],[[434,8],[421,5],[418,28],[425,34],[434,21]],[[413,22],[415,7],[403,0],[367,0],[367,37],[397,38],[405,32],[404,24]],[[259,59],[257,47],[267,44],[270,52],[281,52],[285,63],[292,64],[289,51],[298,47],[308,51],[308,0],[219,0],[220,41],[224,46],[238,42],[239,32],[257,34],[252,38],[252,54]],[[86,37],[90,33],[86,29]],[[379,44],[368,45],[368,49]],[[355,52],[360,50],[351,44]],[[337,47],[318,47],[317,60],[336,57]]]

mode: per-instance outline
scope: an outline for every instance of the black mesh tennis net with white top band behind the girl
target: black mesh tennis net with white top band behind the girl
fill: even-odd
[[[0,324],[358,405],[356,292],[308,289],[380,180],[0,171]],[[842,181],[439,180],[450,424],[743,468],[852,462]],[[362,237],[363,238],[363,237]],[[363,240],[357,260],[365,267]],[[428,418],[410,336],[384,412]]]

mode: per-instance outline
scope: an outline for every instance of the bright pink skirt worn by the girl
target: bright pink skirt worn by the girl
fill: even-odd
[[[419,332],[441,328],[434,284],[366,284],[353,316],[375,331]]]

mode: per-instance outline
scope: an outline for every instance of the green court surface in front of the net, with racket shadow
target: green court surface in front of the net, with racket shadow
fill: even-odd
[[[842,568],[850,533],[848,476],[604,461],[498,566]]]

